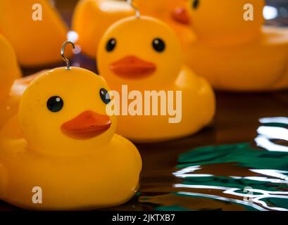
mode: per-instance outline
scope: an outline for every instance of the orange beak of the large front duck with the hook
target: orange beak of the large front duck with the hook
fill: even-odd
[[[77,117],[61,125],[63,134],[73,139],[91,139],[104,133],[111,126],[108,115],[84,111]]]

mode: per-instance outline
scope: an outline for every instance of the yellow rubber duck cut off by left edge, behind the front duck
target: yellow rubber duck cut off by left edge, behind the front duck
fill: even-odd
[[[27,84],[36,75],[21,77],[15,52],[0,34],[0,128],[18,111],[20,98]]]

